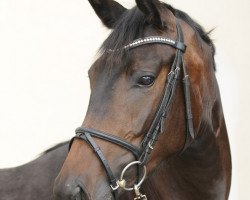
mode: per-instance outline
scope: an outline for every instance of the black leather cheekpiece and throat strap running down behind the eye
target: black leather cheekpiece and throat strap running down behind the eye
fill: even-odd
[[[185,47],[184,45],[184,38],[183,38],[183,32],[180,28],[179,21],[176,19],[176,29],[177,29],[177,41],[176,44],[178,44],[178,47]],[[176,83],[179,76],[179,71],[182,68],[184,73],[184,96],[185,96],[185,106],[186,106],[186,118],[188,119],[187,123],[187,135],[186,135],[186,142],[184,145],[185,147],[188,147],[190,145],[190,142],[192,140],[189,140],[187,142],[187,138],[189,137],[189,134],[193,133],[193,121],[192,121],[192,111],[191,111],[191,103],[190,103],[190,93],[189,93],[189,85],[187,84],[188,75],[186,72],[184,59],[183,59],[183,53],[185,52],[186,48],[177,48],[176,50],[176,56],[175,61],[172,64],[171,71],[168,75],[168,82],[166,83],[166,87],[164,90],[164,95],[162,98],[162,101],[157,109],[157,112],[155,114],[154,120],[146,134],[146,137],[142,141],[142,146],[144,147],[144,151],[140,157],[140,161],[143,164],[146,164],[149,158],[149,155],[151,154],[153,150],[153,146],[155,145],[157,138],[161,132],[163,132],[164,129],[164,121],[169,113],[169,108],[172,103],[172,98],[175,93],[176,89]]]

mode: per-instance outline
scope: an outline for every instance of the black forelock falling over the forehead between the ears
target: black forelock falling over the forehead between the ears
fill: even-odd
[[[129,51],[125,51],[123,47],[135,39],[144,37],[145,23],[146,17],[137,7],[123,13],[99,50],[107,58],[104,66],[111,69],[114,65],[127,65]]]

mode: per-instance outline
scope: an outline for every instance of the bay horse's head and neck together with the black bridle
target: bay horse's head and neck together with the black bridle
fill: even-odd
[[[215,47],[158,0],[89,0],[112,29],[89,69],[85,119],[55,179],[55,200],[225,200],[231,155]]]

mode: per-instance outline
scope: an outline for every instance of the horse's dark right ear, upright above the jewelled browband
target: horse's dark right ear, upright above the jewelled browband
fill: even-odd
[[[165,28],[161,18],[161,2],[158,0],[136,0],[138,8],[146,15],[147,22],[155,25],[160,30]]]

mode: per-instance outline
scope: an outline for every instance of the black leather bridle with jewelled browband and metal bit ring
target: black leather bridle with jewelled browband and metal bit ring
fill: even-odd
[[[136,195],[134,199],[136,200],[146,199],[146,196],[142,195],[139,192],[139,188],[146,176],[145,165],[147,164],[149,155],[154,149],[154,145],[156,144],[159,134],[163,132],[165,118],[169,112],[169,108],[173,99],[173,95],[176,90],[177,79],[179,77],[181,69],[183,72],[183,89],[184,89],[185,113],[186,113],[186,142],[182,151],[184,151],[194,139],[193,119],[192,119],[191,102],[190,102],[190,83],[189,83],[189,76],[187,74],[187,70],[186,70],[186,66],[185,66],[184,58],[183,58],[183,54],[185,53],[186,46],[184,44],[183,32],[178,22],[178,18],[176,19],[176,29],[177,29],[176,41],[166,38],[166,37],[150,36],[150,37],[134,40],[131,44],[124,47],[125,50],[130,50],[130,49],[142,46],[142,45],[158,43],[158,44],[170,45],[176,49],[175,59],[172,64],[170,73],[168,74],[168,79],[166,81],[166,85],[164,88],[163,97],[156,111],[153,122],[151,123],[151,126],[146,136],[142,140],[141,145],[137,147],[114,135],[110,135],[108,133],[104,133],[99,130],[84,128],[84,127],[79,127],[76,129],[76,135],[75,137],[72,138],[70,142],[69,148],[71,147],[71,144],[73,143],[73,140],[75,138],[86,141],[93,148],[94,152],[96,153],[97,157],[101,161],[107,173],[110,186],[113,190],[113,195],[114,195],[115,200],[118,199],[118,192],[117,192],[118,188],[122,188],[127,191],[134,190],[135,195]],[[96,144],[93,137],[111,142],[118,146],[121,146],[131,151],[131,153],[134,155],[136,161],[129,163],[124,168],[119,180],[113,174],[107,160],[105,159],[103,152],[101,151],[100,147]],[[133,188],[127,188],[126,181],[123,179],[123,175],[125,171],[132,165],[138,165],[137,184],[135,184]],[[140,176],[141,176],[142,167],[144,167],[144,173],[141,178]],[[140,178],[141,180],[139,181]]]

